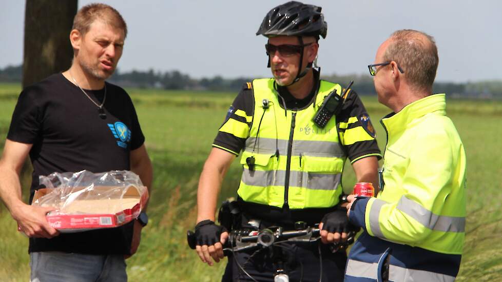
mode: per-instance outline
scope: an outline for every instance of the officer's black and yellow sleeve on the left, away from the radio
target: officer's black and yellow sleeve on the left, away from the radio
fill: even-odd
[[[255,100],[251,83],[244,84],[228,109],[225,120],[218,130],[213,147],[239,155],[249,137],[253,124]]]

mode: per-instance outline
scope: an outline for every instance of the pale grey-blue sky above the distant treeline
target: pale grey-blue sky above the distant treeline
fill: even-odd
[[[80,0],[79,8],[95,1]],[[57,2],[54,2],[57,3]],[[103,0],[128,26],[121,72],[179,70],[191,77],[270,77],[265,14],[284,1]],[[328,32],[319,42],[321,73],[368,73],[378,46],[398,29],[434,36],[436,81],[502,79],[502,1],[309,1],[322,7]],[[25,3],[0,4],[0,68],[23,59]]]

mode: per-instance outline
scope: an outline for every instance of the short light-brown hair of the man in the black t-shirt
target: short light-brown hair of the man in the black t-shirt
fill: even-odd
[[[101,3],[93,3],[80,8],[73,18],[72,29],[76,29],[84,35],[89,31],[91,24],[96,21],[96,19],[114,28],[123,30],[124,38],[127,36],[127,25],[119,11],[109,5]]]

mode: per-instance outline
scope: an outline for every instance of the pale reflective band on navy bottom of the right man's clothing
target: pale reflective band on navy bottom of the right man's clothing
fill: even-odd
[[[378,264],[365,263],[363,261],[349,259],[345,274],[353,277],[363,277],[369,279],[377,279]],[[400,266],[389,266],[389,280],[390,281],[438,281],[449,282],[454,281],[455,277],[441,273],[403,268]]]

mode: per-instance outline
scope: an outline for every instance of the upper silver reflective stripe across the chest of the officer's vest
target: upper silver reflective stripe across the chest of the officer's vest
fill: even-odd
[[[252,152],[255,147],[256,137],[249,137],[246,139],[245,151]],[[277,143],[276,143],[277,142]],[[255,152],[275,153],[279,149],[280,155],[286,155],[288,140],[263,138],[259,137],[256,142]],[[344,152],[340,145],[336,142],[328,141],[315,141],[315,140],[293,140],[293,148],[291,155],[299,156],[325,156],[325,157],[342,157]]]

